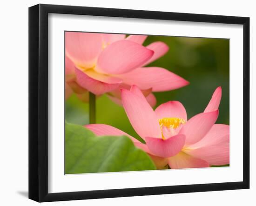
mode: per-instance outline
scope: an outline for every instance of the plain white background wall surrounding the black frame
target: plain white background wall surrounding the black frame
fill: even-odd
[[[253,0],[23,0],[2,1],[0,18],[0,205],[37,205],[28,190],[28,7],[38,3],[113,7],[166,12],[203,13],[250,17],[251,105],[255,105],[256,13]],[[251,128],[256,110],[251,106]],[[242,122],[241,122],[242,123]],[[251,189],[204,193],[77,200],[44,205],[255,205],[255,128],[251,129]],[[210,178],[210,177],[209,177]],[[132,181],[132,180],[131,180]],[[149,180],[150,181],[150,180]]]

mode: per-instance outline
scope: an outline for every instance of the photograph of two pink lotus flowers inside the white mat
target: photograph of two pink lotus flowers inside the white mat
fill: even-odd
[[[229,39],[64,35],[65,174],[230,166]]]

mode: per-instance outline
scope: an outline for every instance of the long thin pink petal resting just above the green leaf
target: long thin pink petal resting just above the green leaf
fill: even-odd
[[[105,135],[113,135],[113,136],[121,136],[125,135],[129,137],[133,142],[140,142],[139,140],[135,139],[131,135],[121,131],[120,129],[115,128],[114,126],[104,125],[104,124],[90,124],[85,125],[86,128],[91,130],[97,136],[105,136]]]

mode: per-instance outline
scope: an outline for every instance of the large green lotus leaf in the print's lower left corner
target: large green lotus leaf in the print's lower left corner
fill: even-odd
[[[126,136],[95,136],[83,126],[66,123],[65,173],[155,170],[148,154]]]

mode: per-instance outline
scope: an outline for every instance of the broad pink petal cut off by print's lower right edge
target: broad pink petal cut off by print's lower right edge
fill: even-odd
[[[229,125],[214,125],[202,140],[189,146],[186,153],[210,165],[229,164]]]

